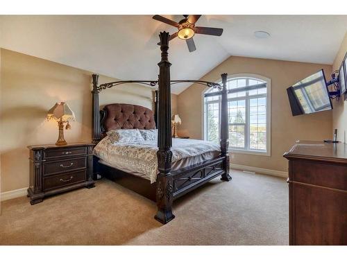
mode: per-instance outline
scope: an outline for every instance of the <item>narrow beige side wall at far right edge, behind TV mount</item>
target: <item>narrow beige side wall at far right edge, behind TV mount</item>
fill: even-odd
[[[332,64],[332,70],[339,69],[342,60],[347,51],[347,33],[344,37],[344,41],[341,43],[341,47],[335,58],[334,64]],[[341,96],[339,102],[335,101],[333,104],[334,110],[332,110],[332,128],[337,129],[337,139],[339,141],[347,141],[347,99],[344,101],[344,97]]]

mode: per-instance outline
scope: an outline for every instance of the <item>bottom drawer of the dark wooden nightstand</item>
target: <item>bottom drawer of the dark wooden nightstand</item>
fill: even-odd
[[[44,177],[44,190],[55,189],[86,180],[86,171],[75,171],[51,177]]]

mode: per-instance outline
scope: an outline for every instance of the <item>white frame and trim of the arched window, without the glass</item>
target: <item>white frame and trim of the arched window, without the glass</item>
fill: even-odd
[[[246,148],[235,148],[232,147],[230,148],[229,146],[229,152],[232,153],[243,153],[243,154],[249,154],[249,155],[265,155],[265,156],[271,156],[271,79],[270,78],[266,78],[264,76],[261,75],[257,75],[254,73],[237,73],[237,74],[232,74],[229,75],[227,80],[232,80],[232,79],[236,79],[236,78],[251,78],[254,80],[262,80],[264,81],[264,83],[266,83],[266,94],[257,94],[252,96],[252,98],[257,98],[257,97],[264,97],[266,96],[266,151],[262,151],[262,150],[252,150],[252,149],[246,149]],[[218,80],[215,81],[216,83],[220,83],[221,79],[219,78]],[[208,102],[205,103],[205,93],[208,92],[210,90],[210,88],[206,88],[205,91],[202,93],[202,133],[203,133],[203,139],[206,140],[207,138],[207,104],[208,103],[212,103],[212,102]],[[221,98],[219,96],[219,98]],[[235,98],[232,98],[233,101],[235,100]],[[236,98],[237,99],[237,98]],[[246,125],[246,129],[245,129],[245,146],[249,147],[248,144],[246,144],[246,139],[249,142],[249,128],[250,128],[250,124],[249,124],[249,112],[248,112],[248,102],[249,102],[249,96],[246,95],[244,97],[239,97],[239,99],[245,100],[245,114],[247,116],[247,123],[245,123]],[[228,98],[228,102],[229,102],[229,98]],[[220,110],[219,110],[220,111]],[[220,123],[220,114],[219,113],[219,123]],[[230,125],[230,124],[228,124]],[[220,125],[219,125],[220,128]],[[219,131],[219,135],[220,135],[220,131]]]

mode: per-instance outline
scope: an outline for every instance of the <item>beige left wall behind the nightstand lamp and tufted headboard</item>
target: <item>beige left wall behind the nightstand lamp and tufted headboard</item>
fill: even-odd
[[[31,144],[54,144],[56,122],[46,121],[46,112],[56,102],[66,101],[76,114],[67,142],[91,140],[91,72],[1,49],[2,96],[0,121],[1,191],[28,187],[28,149]],[[154,64],[155,65],[155,64]],[[99,83],[115,80],[101,76]],[[101,92],[100,105],[131,103],[152,108],[153,89],[124,85]],[[177,110],[177,97],[172,98]],[[174,111],[175,112],[175,111]]]

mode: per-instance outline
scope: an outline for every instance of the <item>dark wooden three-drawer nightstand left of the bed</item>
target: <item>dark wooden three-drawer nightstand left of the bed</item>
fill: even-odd
[[[30,186],[28,197],[34,205],[51,196],[81,187],[92,188],[94,144],[28,146]]]

